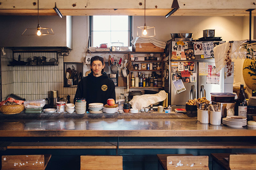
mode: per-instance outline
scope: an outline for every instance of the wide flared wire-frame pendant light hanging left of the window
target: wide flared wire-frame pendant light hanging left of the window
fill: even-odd
[[[27,28],[21,35],[53,35],[52,28],[42,28],[39,25],[39,0],[37,0],[37,21],[38,25],[36,28]]]

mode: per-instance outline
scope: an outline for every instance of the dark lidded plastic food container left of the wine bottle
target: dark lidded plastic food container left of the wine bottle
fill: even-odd
[[[234,103],[235,96],[233,93],[210,93],[211,100],[217,103]]]

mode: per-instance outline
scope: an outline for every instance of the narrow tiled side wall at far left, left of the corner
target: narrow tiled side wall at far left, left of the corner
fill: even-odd
[[[7,66],[12,61],[12,50],[4,48],[4,52],[6,55],[1,53],[2,101],[14,90],[13,67]]]

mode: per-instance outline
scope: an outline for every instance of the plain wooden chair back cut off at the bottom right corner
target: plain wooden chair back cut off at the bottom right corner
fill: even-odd
[[[229,168],[230,170],[256,169],[256,154],[229,155]]]

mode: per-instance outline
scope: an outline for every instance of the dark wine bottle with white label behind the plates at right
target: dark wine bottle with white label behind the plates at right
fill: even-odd
[[[235,106],[235,116],[247,116],[247,103],[244,96],[244,84],[240,85],[240,91]]]

